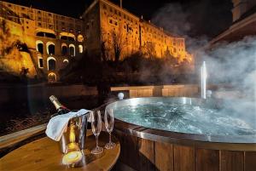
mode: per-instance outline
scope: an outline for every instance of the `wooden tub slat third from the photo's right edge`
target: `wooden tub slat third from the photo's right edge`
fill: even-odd
[[[196,171],[219,171],[219,151],[197,149]]]

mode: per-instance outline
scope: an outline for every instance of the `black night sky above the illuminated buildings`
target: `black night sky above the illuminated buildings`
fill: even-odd
[[[5,1],[79,18],[93,0]],[[119,0],[111,1],[119,3]],[[123,0],[123,8],[170,32],[189,37],[214,37],[232,22],[231,0]]]

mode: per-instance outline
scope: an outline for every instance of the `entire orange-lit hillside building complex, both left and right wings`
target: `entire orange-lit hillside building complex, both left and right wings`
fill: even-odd
[[[0,2],[0,21],[3,20],[9,26],[12,41],[26,43],[30,54],[26,58],[20,54],[20,59],[26,61],[20,60],[19,65],[18,60],[8,58],[0,58],[0,64],[15,72],[21,67],[29,68],[30,77],[45,77],[49,82],[58,81],[59,71],[85,51],[103,60],[123,60],[140,52],[148,58],[173,56],[178,62],[193,61],[183,37],[173,37],[107,0],[95,0],[81,19]],[[9,54],[12,55],[15,54]]]

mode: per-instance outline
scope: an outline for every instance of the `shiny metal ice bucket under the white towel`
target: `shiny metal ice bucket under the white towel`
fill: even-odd
[[[73,122],[73,131],[71,131],[71,122]],[[75,142],[78,143],[80,150],[85,148],[87,131],[87,114],[80,117],[74,117],[69,121],[67,130],[62,134],[61,140],[59,141],[60,150],[62,153],[67,151],[67,145],[71,142],[71,137],[75,136]]]

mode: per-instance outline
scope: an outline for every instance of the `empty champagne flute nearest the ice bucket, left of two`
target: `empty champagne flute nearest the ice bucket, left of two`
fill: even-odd
[[[98,145],[98,137],[102,131],[102,116],[101,111],[90,111],[91,129],[96,136],[96,147],[91,151],[92,154],[100,154],[103,148]]]

